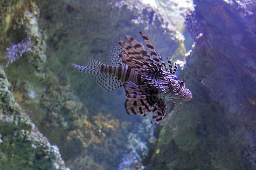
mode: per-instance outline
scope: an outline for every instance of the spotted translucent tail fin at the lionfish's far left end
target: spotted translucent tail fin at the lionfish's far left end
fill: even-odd
[[[102,63],[96,60],[89,60],[85,65],[78,65],[73,63],[71,63],[71,65],[73,68],[85,73],[86,75],[98,75],[100,73],[100,66]]]

